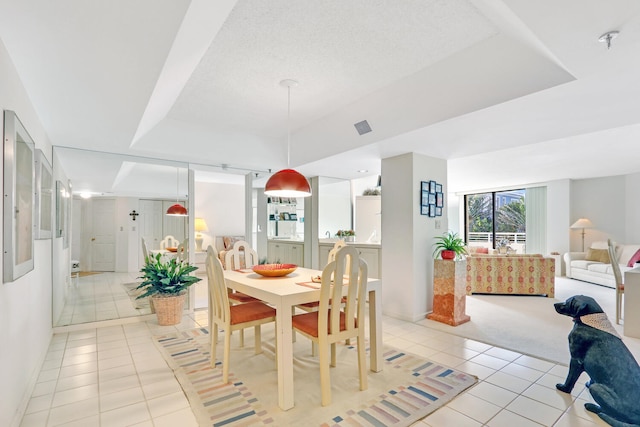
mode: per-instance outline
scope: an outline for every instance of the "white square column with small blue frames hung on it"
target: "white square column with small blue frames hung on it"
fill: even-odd
[[[420,182],[437,181],[446,191],[446,161],[414,153],[391,157],[382,161],[382,176],[382,308],[416,321],[432,309],[433,239],[448,225],[446,206],[442,217],[420,215]]]

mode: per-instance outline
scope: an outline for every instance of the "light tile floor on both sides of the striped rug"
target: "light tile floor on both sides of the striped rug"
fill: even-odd
[[[567,367],[384,317],[385,343],[476,375],[478,384],[415,427],[606,426],[584,409],[584,376],[555,389]],[[155,320],[55,334],[21,426],[197,426],[152,337],[207,326],[206,310],[178,326]]]

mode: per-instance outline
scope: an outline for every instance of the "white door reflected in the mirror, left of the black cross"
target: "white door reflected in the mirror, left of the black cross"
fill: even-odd
[[[116,203],[114,199],[94,199],[92,203],[91,271],[115,271]]]

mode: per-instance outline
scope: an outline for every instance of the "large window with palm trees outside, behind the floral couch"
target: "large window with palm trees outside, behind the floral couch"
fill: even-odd
[[[495,249],[506,245],[525,252],[525,190],[507,190],[465,196],[465,234],[469,246]]]

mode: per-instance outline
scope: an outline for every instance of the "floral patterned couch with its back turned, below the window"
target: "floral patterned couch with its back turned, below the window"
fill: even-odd
[[[546,295],[554,297],[555,259],[542,255],[467,257],[467,294]]]

